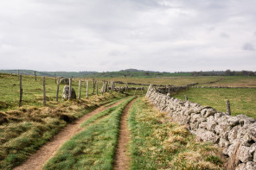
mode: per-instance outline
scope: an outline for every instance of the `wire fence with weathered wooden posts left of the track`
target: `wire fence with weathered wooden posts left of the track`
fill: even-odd
[[[45,101],[59,101],[62,98],[62,93],[65,85],[60,84],[59,93],[57,93],[57,82],[61,78],[45,77],[45,89],[43,88],[43,77],[41,76],[31,76],[31,75],[21,75],[22,77],[22,87],[20,87],[20,78],[18,79],[16,75],[8,75],[5,77],[0,76],[0,110],[4,109],[1,106],[1,102],[10,106],[15,106],[19,104],[19,99],[21,98],[20,105],[22,104],[45,104]],[[80,83],[81,82],[81,83]],[[88,89],[86,89],[86,82],[88,82]],[[88,98],[93,95],[97,95],[97,84],[98,84],[98,95],[102,95],[106,92],[118,91],[129,93],[135,90],[134,95],[137,93],[145,93],[145,85],[134,85],[131,86],[130,83],[123,82],[110,82],[102,79],[72,79],[72,88],[76,94],[79,94],[81,98]],[[140,87],[139,91],[138,87]],[[22,92],[21,92],[22,89]],[[44,93],[46,94],[44,96]],[[22,96],[22,97],[21,97]]]

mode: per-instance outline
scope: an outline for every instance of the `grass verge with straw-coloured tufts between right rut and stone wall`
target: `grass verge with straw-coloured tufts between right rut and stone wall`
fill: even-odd
[[[221,152],[209,142],[195,142],[166,113],[138,98],[129,116],[131,169],[221,169]]]

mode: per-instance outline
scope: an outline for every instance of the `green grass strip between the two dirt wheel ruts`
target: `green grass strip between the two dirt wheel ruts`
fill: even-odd
[[[115,149],[118,142],[119,119],[125,106],[135,97],[128,98],[109,116],[95,122],[71,140],[64,143],[43,169],[112,169]],[[106,112],[105,112],[106,113]],[[100,113],[99,113],[100,114]]]

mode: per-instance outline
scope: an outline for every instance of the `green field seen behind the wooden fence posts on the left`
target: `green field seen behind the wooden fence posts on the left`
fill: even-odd
[[[74,91],[78,97],[79,80],[73,79]],[[84,79],[81,79],[84,80]],[[99,82],[99,95],[102,81]],[[0,73],[0,111],[15,110],[19,104],[20,82],[15,74]],[[46,77],[46,96],[47,105],[54,106],[56,104],[64,104],[62,100],[62,90],[64,85],[60,85],[59,102],[55,102],[57,85],[54,78]],[[43,91],[42,91],[42,77],[37,77],[35,81],[34,76],[22,75],[22,106],[42,107]],[[89,79],[89,98],[93,96],[93,81]],[[132,91],[130,92],[132,94]],[[94,95],[96,94],[96,89]],[[86,85],[82,82],[81,98],[86,98]]]

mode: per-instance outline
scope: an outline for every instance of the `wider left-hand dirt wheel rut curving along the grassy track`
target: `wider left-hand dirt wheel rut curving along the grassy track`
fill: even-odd
[[[15,167],[15,170],[41,170],[43,165],[54,155],[54,153],[61,147],[64,142],[67,142],[73,135],[79,133],[83,128],[80,128],[80,124],[84,123],[88,118],[96,115],[102,110],[106,110],[110,107],[116,106],[123,102],[112,104],[109,106],[100,106],[98,109],[87,113],[74,123],[67,124],[67,126],[61,130],[61,132],[54,136],[54,138],[42,146],[35,154],[32,154],[27,161],[22,163],[21,166]]]

